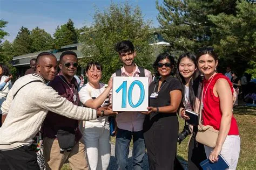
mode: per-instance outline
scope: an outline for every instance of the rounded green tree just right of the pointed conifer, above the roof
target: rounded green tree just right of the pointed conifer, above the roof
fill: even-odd
[[[53,48],[53,38],[51,35],[43,29],[39,29],[38,26],[32,30],[30,37],[32,39],[32,49],[34,52]]]

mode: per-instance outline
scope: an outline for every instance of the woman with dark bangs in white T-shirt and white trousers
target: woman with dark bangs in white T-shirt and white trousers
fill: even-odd
[[[89,62],[85,74],[89,82],[79,90],[79,99],[85,107],[98,109],[109,105],[109,92],[112,89],[112,79],[107,88],[100,83],[102,66],[98,62]],[[86,121],[82,128],[86,147],[86,157],[90,169],[107,169],[110,161],[110,128],[107,117]]]

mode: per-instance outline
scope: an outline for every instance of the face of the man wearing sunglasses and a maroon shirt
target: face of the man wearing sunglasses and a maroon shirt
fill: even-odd
[[[66,77],[73,77],[77,72],[77,58],[74,55],[64,55],[59,68]]]

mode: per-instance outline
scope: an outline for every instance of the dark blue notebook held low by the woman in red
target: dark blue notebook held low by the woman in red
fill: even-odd
[[[224,170],[230,165],[227,163],[227,161],[223,158],[223,156],[220,154],[219,159],[217,162],[211,162],[209,159],[206,159],[200,163],[200,166],[203,168],[203,170],[211,170],[211,169],[216,169],[216,170]]]

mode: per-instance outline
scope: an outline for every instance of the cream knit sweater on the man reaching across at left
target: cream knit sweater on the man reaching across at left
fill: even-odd
[[[24,84],[32,82],[21,88]],[[18,91],[17,95],[14,94]],[[31,145],[32,138],[41,127],[48,110],[78,120],[97,118],[97,111],[73,105],[58,92],[45,85],[42,76],[28,74],[19,78],[2,104],[2,113],[7,115],[0,128],[0,150],[12,150]]]

